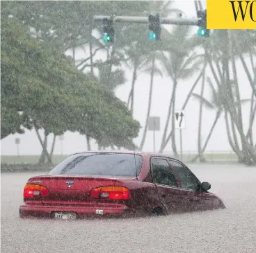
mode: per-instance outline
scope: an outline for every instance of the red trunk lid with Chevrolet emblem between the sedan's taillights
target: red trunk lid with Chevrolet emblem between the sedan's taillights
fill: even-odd
[[[100,186],[114,186],[115,177],[102,176],[41,176],[27,182],[37,182],[49,190],[47,197],[41,198],[42,204],[86,204],[95,205],[97,200],[90,198],[90,191]]]

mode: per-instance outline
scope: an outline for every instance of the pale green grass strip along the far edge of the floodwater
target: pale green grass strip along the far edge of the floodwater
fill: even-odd
[[[184,152],[183,160],[189,161],[195,155],[195,152]],[[54,155],[53,163],[58,164],[66,157],[68,155]],[[39,158],[39,155],[1,155],[1,164],[36,164]],[[205,158],[208,162],[237,161],[237,155],[233,152],[208,152],[205,153]]]

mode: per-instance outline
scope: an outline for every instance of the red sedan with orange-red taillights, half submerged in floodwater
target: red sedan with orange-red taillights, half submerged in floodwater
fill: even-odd
[[[163,215],[225,205],[182,162],[145,152],[71,155],[24,186],[21,218]]]

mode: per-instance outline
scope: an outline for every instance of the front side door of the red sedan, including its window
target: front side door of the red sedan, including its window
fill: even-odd
[[[169,159],[168,162],[172,166],[177,179],[179,186],[178,198],[183,203],[182,211],[198,211],[202,209],[204,202],[198,178],[181,162],[174,159]]]

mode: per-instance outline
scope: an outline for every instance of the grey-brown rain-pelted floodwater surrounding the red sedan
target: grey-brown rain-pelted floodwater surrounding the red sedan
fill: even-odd
[[[125,220],[22,220],[26,180],[1,174],[2,253],[255,253],[256,167],[193,165],[227,209]]]

